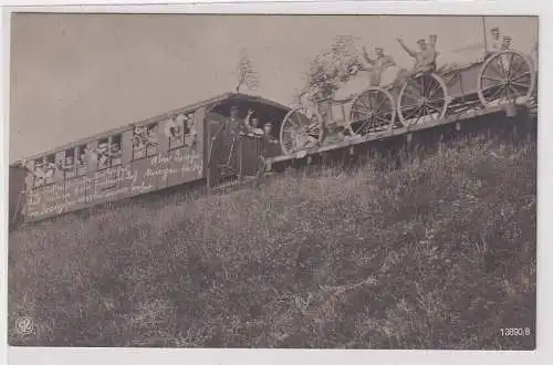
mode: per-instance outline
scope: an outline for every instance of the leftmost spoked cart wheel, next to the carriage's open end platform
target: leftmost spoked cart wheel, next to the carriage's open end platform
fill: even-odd
[[[323,131],[315,115],[307,117],[303,108],[296,108],[284,116],[280,128],[280,144],[284,155],[314,147],[322,138]]]

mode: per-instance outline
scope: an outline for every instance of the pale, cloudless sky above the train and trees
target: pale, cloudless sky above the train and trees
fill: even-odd
[[[538,20],[487,17],[530,53]],[[400,66],[438,35],[439,63],[483,43],[481,17],[20,13],[11,23],[10,161],[233,91],[240,49],[259,77],[252,92],[289,105],[313,58],[336,35],[379,45]]]

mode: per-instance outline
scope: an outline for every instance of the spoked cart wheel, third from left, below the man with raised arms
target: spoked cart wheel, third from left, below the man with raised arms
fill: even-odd
[[[407,80],[397,98],[397,114],[404,126],[444,118],[449,104],[446,83],[437,74]]]

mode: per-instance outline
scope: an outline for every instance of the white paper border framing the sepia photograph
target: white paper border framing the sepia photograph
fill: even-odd
[[[66,0],[32,1],[32,0],[0,0],[2,6],[18,6],[9,10],[19,11],[71,11],[71,12],[205,12],[205,13],[392,13],[392,14],[539,14],[540,18],[540,100],[542,101],[539,115],[539,240],[538,240],[538,350],[535,352],[474,352],[474,351],[285,351],[285,350],[135,350],[135,348],[45,348],[45,347],[10,347],[8,348],[10,365],[15,364],[283,364],[320,363],[320,364],[545,364],[549,335],[552,331],[551,313],[551,280],[553,280],[553,260],[551,243],[553,237],[547,229],[553,217],[551,198],[547,194],[553,186],[552,176],[552,124],[553,112],[547,107],[551,77],[549,66],[553,64],[553,18],[551,17],[551,0],[501,0],[501,1],[319,1],[295,2],[280,0],[279,2],[262,0],[242,0],[230,3],[228,1],[196,0],[194,4],[163,6],[156,1],[133,1],[127,4],[149,3],[145,6],[123,6],[116,1],[98,0]],[[166,0],[165,3],[177,1]],[[182,1],[180,1],[182,2]],[[191,1],[188,1],[191,2]],[[210,2],[210,3],[208,3]],[[218,2],[218,3],[213,3]],[[248,3],[249,2],[249,3]],[[29,8],[28,6],[41,6]],[[75,4],[87,4],[75,7]],[[23,7],[21,7],[23,6]],[[2,105],[0,128],[0,166],[2,182],[0,190],[3,201],[8,201],[6,187],[8,186],[8,116],[9,116],[9,13],[2,13],[1,44],[2,53]],[[6,174],[6,175],[4,175]],[[7,222],[7,205],[0,205],[0,216]],[[551,223],[550,223],[551,225]],[[0,241],[7,242],[6,229],[0,229]],[[7,278],[7,244],[2,253],[1,278]],[[1,293],[7,303],[7,282],[2,280]],[[0,312],[2,320],[1,338],[7,343],[7,307]],[[1,347],[4,353],[6,345]],[[2,358],[6,358],[2,356]],[[547,362],[549,363],[549,362]]]

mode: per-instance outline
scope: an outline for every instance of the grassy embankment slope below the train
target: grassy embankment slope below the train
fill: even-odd
[[[10,344],[533,348],[535,140],[383,165],[14,231]]]

